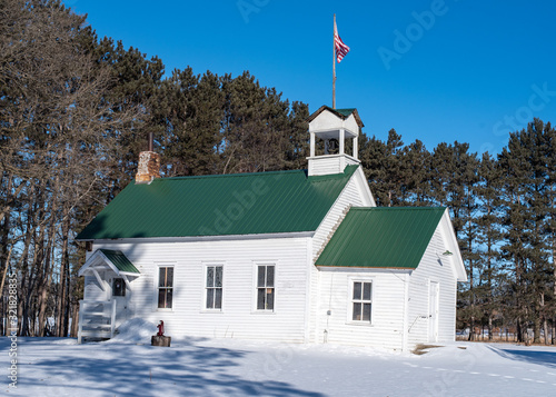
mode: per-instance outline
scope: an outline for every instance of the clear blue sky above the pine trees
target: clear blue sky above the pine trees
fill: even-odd
[[[509,131],[556,122],[556,2],[479,0],[66,0],[100,37],[166,72],[249,70],[282,98],[331,106],[332,14],[351,51],[337,66],[337,107],[364,132],[433,150],[469,142],[499,152]]]

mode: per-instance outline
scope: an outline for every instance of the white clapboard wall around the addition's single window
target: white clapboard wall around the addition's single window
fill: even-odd
[[[406,274],[399,270],[321,268],[317,343],[401,349]],[[373,282],[371,322],[351,321],[351,284]],[[328,315],[328,312],[330,315]]]

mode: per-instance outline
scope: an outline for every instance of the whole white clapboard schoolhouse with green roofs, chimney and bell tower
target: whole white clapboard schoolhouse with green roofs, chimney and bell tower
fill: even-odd
[[[79,341],[136,317],[172,337],[454,340],[467,277],[448,210],[376,207],[361,127],[356,109],[311,115],[308,170],[159,178],[158,155],[142,152],[136,181],[77,236]]]

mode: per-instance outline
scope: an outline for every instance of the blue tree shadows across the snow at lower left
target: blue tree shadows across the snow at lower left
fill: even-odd
[[[269,380],[262,366],[261,374],[238,375],[241,359],[255,353],[199,346],[201,340],[183,339],[176,347],[163,348],[21,338],[18,389],[40,387],[48,395],[59,389],[75,396],[156,396],[165,390],[179,396],[322,396]],[[9,347],[9,339],[1,340],[0,347]]]

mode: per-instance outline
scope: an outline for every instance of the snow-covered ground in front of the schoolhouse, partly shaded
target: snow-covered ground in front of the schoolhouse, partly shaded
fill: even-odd
[[[143,329],[142,333],[138,333]],[[427,354],[187,338],[151,347],[131,324],[106,343],[0,338],[6,396],[555,396],[556,348],[456,343]]]

